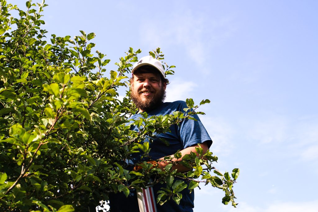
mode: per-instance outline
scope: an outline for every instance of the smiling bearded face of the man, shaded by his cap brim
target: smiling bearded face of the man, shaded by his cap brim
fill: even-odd
[[[163,102],[166,86],[154,73],[136,73],[131,81],[130,97],[143,112]]]

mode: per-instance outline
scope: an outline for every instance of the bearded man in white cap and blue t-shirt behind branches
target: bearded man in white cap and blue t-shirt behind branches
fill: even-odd
[[[175,102],[163,102],[166,96],[166,87],[168,79],[165,78],[162,64],[159,60],[146,56],[141,58],[133,65],[132,78],[130,80],[131,99],[135,105],[139,108],[137,114],[131,118],[138,120],[141,117],[141,112],[147,112],[149,116],[153,115],[166,115],[172,114],[174,111],[183,111],[186,108],[184,101]],[[163,159],[165,156],[171,156],[181,150],[182,156],[190,154],[190,152],[196,153],[195,147],[198,144],[203,148],[203,152],[211,146],[211,138],[206,132],[201,121],[197,115],[193,116],[197,119],[184,120],[179,126],[173,125],[170,127],[168,133],[161,133],[156,135],[156,139],[149,142],[149,160]],[[133,126],[132,130],[138,130]],[[163,143],[160,139],[163,138],[169,142],[169,146]],[[145,141],[149,141],[146,139]],[[180,159],[173,158],[172,161],[180,161]],[[134,155],[130,164],[136,164],[140,162],[138,155]],[[158,167],[163,169],[169,164],[170,161],[158,162]],[[175,165],[172,167],[177,169],[178,172],[189,171],[188,168],[182,165]],[[157,198],[157,191],[160,188],[165,188],[165,185],[157,184],[153,187],[155,193],[155,199]],[[173,200],[164,203],[162,206],[157,204],[157,211],[193,211],[194,192],[189,193],[188,189],[184,189],[182,192],[182,199],[180,204],[177,205]],[[123,194],[116,194],[110,196],[110,209],[114,211],[139,211],[137,197],[135,192],[130,192],[127,199]]]

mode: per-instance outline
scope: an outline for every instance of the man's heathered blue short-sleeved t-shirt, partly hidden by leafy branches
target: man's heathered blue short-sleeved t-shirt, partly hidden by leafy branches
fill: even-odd
[[[165,102],[162,105],[158,106],[156,109],[151,111],[146,111],[150,116],[156,115],[167,115],[172,114],[175,111],[184,112],[184,108],[187,108],[187,105],[184,101],[175,101],[175,102]],[[135,114],[131,117],[133,120],[138,120],[141,118],[141,114]],[[204,128],[203,124],[201,123],[199,117],[197,115],[193,115],[195,120],[186,119],[183,120],[179,126],[172,125],[170,127],[170,132],[167,133],[160,133],[154,136],[152,142],[149,142],[149,159],[147,160],[156,160],[162,158],[164,156],[175,154],[178,150],[185,149],[187,147],[191,147],[198,143],[203,143],[205,141],[208,142],[208,147],[211,146],[212,140],[207,133],[206,129]],[[138,130],[136,126],[132,126],[131,130]],[[162,140],[164,139],[169,142],[167,146]],[[148,141],[146,139],[145,141]],[[144,142],[145,142],[144,141]],[[134,154],[132,155],[133,159],[127,161],[129,164],[135,164],[141,161],[140,159],[141,154]],[[143,161],[146,160],[145,158],[142,159]],[[176,179],[175,179],[176,180]],[[180,180],[180,179],[178,179]],[[153,189],[155,193],[155,200],[157,199],[157,191],[160,188],[165,188],[165,184],[156,184]],[[173,200],[167,201],[163,205],[157,204],[157,211],[158,212],[169,212],[169,211],[182,211],[182,212],[192,212],[193,210],[193,201],[194,201],[194,192],[191,194],[189,190],[183,189],[181,191],[182,199],[177,205]],[[132,212],[139,212],[138,202],[135,191],[131,191],[128,198],[124,196],[122,193],[110,195],[110,209],[111,211],[132,211]],[[123,204],[124,203],[124,204]]]

